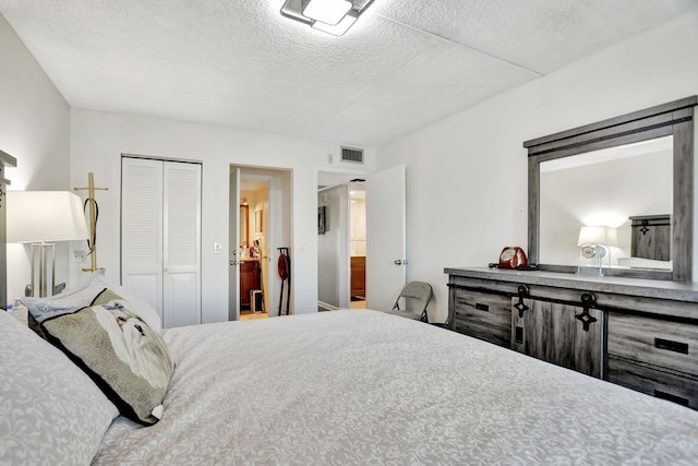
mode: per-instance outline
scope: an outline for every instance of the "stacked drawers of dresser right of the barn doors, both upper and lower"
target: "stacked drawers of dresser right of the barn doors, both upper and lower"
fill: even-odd
[[[698,409],[698,325],[609,313],[609,382]]]

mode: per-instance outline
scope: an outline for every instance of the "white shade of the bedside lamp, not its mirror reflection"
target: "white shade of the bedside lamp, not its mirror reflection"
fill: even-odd
[[[8,242],[89,238],[80,196],[68,191],[8,191]]]

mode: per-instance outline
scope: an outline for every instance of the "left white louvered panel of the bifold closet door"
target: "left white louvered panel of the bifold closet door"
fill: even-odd
[[[122,158],[121,283],[163,320],[163,162]]]

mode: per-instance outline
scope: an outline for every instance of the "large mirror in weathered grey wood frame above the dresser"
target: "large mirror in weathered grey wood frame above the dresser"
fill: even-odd
[[[576,273],[580,227],[609,226],[616,228],[617,246],[610,248],[615,261],[604,275],[691,280],[697,104],[691,96],[525,142],[529,262]],[[633,222],[641,227],[657,216],[671,224],[671,262],[618,264],[633,255]]]

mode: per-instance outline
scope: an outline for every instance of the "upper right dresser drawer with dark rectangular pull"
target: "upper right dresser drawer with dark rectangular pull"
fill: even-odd
[[[698,325],[610,312],[609,356],[698,375]]]

